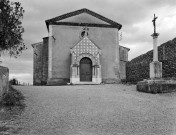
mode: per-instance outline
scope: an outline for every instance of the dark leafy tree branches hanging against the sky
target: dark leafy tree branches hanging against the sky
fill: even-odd
[[[27,49],[22,38],[24,9],[19,2],[0,0],[0,52],[17,57]]]

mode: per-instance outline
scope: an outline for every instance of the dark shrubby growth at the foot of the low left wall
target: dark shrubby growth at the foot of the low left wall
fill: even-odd
[[[0,106],[22,106],[24,101],[23,94],[14,89],[13,86],[9,85],[8,92],[5,92],[2,95],[2,99],[0,100]]]

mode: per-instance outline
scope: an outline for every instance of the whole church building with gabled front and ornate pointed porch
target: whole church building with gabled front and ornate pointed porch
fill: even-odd
[[[119,83],[129,48],[122,25],[86,8],[45,21],[48,37],[33,47],[33,85]]]

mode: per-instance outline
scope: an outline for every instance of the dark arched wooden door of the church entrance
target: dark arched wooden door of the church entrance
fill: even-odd
[[[87,57],[84,57],[80,60],[80,81],[92,81],[92,61]]]

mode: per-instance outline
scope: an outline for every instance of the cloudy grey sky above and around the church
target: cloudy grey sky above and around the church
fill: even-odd
[[[176,0],[11,0],[18,1],[25,10],[22,25],[27,50],[18,58],[4,54],[2,66],[10,70],[10,79],[21,83],[33,82],[33,48],[48,36],[45,20],[78,9],[87,8],[122,24],[120,45],[130,48],[129,60],[146,53],[153,47],[152,19],[160,33],[158,45],[176,37]]]

